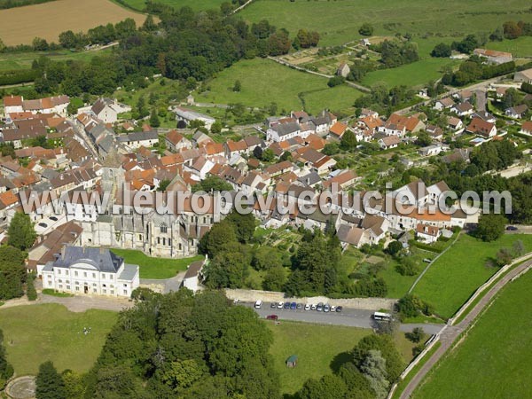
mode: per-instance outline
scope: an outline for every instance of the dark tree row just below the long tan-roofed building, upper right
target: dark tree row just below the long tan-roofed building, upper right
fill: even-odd
[[[453,86],[464,86],[477,80],[511,74],[515,70],[516,66],[513,61],[505,62],[504,64],[484,65],[482,64],[482,59],[475,56],[463,62],[457,72],[444,74],[442,83]]]

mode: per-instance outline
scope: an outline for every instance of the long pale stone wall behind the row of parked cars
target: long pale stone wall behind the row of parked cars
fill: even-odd
[[[285,293],[277,293],[272,291],[256,291],[256,290],[231,290],[226,289],[225,294],[231,300],[238,299],[245,302],[265,301],[265,302],[280,302],[293,301],[303,303],[329,303],[334,306],[343,306],[345,308],[379,310],[379,309],[393,309],[395,299],[388,298],[350,298],[350,299],[330,299],[325,296],[290,298],[286,297]]]

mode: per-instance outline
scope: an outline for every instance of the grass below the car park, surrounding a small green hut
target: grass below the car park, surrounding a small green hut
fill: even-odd
[[[274,341],[270,354],[279,374],[281,393],[293,394],[310,378],[320,379],[331,374],[332,368],[349,360],[348,354],[356,343],[371,334],[371,330],[341,325],[314,325],[282,321],[275,325],[265,321],[273,332]],[[411,342],[398,333],[395,343],[405,362],[411,361]],[[286,359],[298,356],[293,369],[286,367]]]

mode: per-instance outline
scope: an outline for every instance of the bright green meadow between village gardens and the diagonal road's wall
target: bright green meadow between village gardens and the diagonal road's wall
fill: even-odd
[[[451,317],[493,274],[496,268],[486,266],[502,247],[512,248],[516,240],[522,240],[526,252],[532,250],[532,236],[525,234],[504,235],[495,242],[482,242],[463,234],[457,243],[442,255],[414,288],[415,294],[434,306],[442,317]]]

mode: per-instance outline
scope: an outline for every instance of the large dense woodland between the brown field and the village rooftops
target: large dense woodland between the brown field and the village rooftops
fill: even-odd
[[[157,27],[145,24],[135,31],[131,27],[123,35],[127,37],[112,54],[90,62],[39,60],[34,65],[39,71],[35,90],[40,94],[101,95],[118,86],[135,87],[135,82],[153,74],[193,85],[239,59],[284,54],[292,46],[286,30],[267,21],[250,27],[220,12],[199,14],[189,7],[163,7]]]

